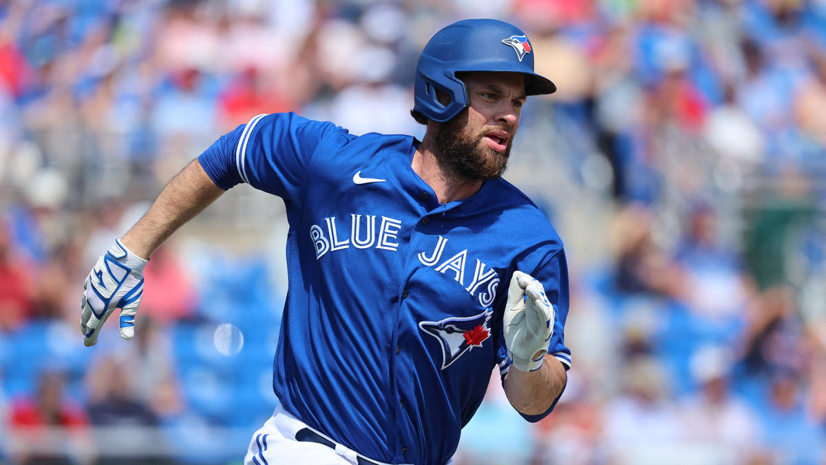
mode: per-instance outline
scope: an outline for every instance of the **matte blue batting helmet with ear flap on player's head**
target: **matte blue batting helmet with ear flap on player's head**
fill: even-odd
[[[421,51],[415,66],[413,108],[445,122],[468,106],[468,92],[456,77],[463,71],[507,71],[525,74],[525,93],[553,93],[557,86],[534,73],[534,52],[516,26],[495,19],[466,19],[445,26]],[[439,102],[436,89],[450,97]]]

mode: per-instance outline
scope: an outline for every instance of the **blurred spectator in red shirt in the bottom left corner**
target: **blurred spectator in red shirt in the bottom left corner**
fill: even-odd
[[[9,454],[15,463],[90,463],[88,417],[64,395],[66,374],[41,372],[36,395],[13,401]]]

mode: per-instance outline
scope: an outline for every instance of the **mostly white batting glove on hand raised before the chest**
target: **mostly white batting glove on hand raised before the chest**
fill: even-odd
[[[553,335],[553,305],[545,288],[532,276],[515,271],[510,278],[508,303],[502,318],[508,357],[523,372],[542,367]]]

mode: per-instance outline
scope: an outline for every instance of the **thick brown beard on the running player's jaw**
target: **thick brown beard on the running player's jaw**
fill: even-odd
[[[468,110],[439,125],[436,132],[436,161],[444,174],[454,180],[493,180],[500,177],[508,165],[513,132],[508,131],[504,152],[499,153],[482,143],[484,134],[471,134],[465,129]]]

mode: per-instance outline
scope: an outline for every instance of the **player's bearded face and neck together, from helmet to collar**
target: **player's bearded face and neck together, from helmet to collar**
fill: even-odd
[[[462,78],[468,108],[449,122],[430,121],[412,163],[442,203],[470,197],[484,180],[505,171],[526,99],[522,74],[479,72]]]

